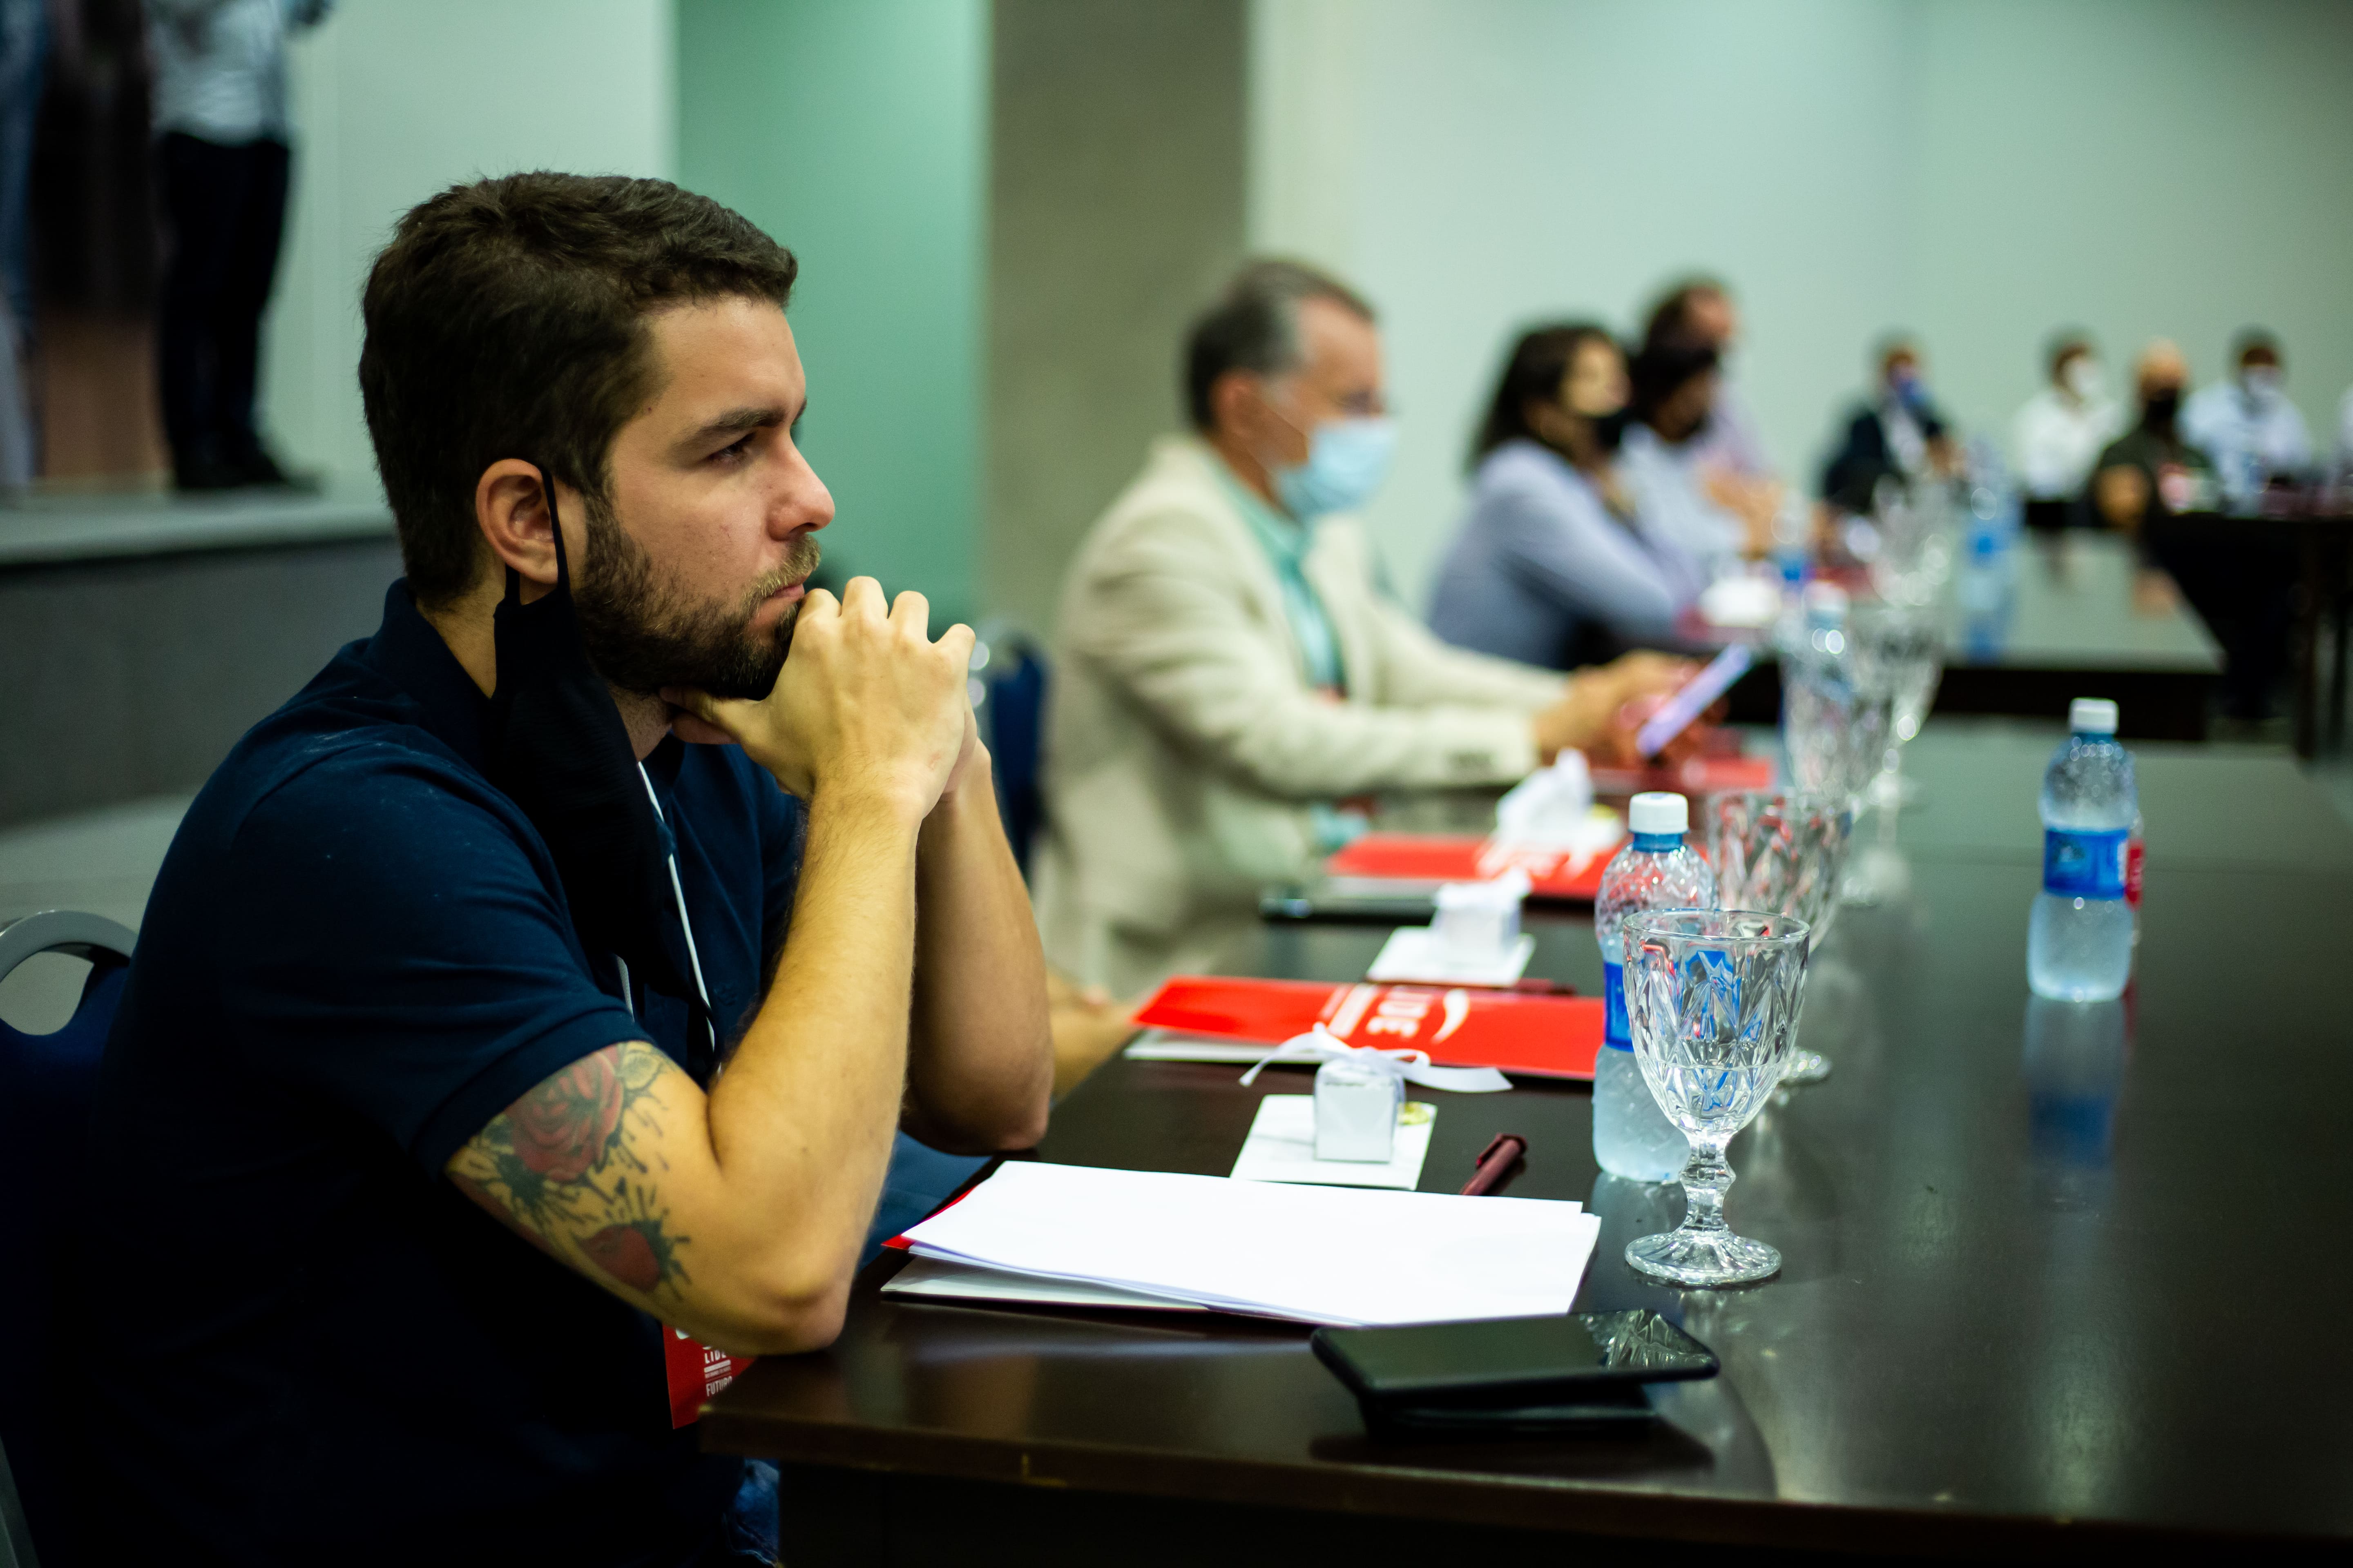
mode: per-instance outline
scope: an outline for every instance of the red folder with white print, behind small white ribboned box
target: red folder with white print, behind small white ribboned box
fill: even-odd
[[[1440,985],[1325,985],[1176,976],[1136,1023],[1268,1046],[1322,1023],[1351,1046],[1428,1051],[1440,1067],[1497,1067],[1544,1079],[1593,1079],[1602,1046],[1600,997],[1529,997]]]

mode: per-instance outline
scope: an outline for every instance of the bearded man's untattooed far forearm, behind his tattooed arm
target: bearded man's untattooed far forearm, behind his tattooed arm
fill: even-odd
[[[984,750],[918,846],[906,1124],[946,1150],[1024,1150],[1052,1088],[1045,954]]]

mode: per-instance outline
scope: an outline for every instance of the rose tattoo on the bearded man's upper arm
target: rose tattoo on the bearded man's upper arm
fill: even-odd
[[[661,1201],[659,1143],[685,1079],[645,1041],[584,1056],[489,1121],[447,1173],[475,1204],[553,1258],[640,1295],[687,1281],[689,1239]]]

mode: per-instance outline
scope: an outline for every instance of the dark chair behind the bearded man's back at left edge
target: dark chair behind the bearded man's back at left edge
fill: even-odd
[[[0,926],[0,978],[38,952],[89,961],[66,1027],[26,1034],[0,1023],[0,1173],[19,1197],[0,1220],[0,1248],[14,1260],[19,1281],[0,1291],[0,1568],[40,1563],[31,1526],[40,1526],[49,1568],[66,1568],[78,1556],[71,1422],[52,1382],[61,1371],[54,1291],[73,1241],[66,1194],[75,1192],[71,1173],[87,1157],[99,1056],[122,1001],[132,940],[125,926],[73,910]]]

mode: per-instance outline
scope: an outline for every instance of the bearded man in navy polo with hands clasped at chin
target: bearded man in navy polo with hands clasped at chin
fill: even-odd
[[[896,1126],[1042,1133],[972,632],[802,588],[793,277],[562,174],[376,259],[407,576],[195,799],[106,1048],[104,1561],[772,1561],[706,1389],[840,1331]]]

